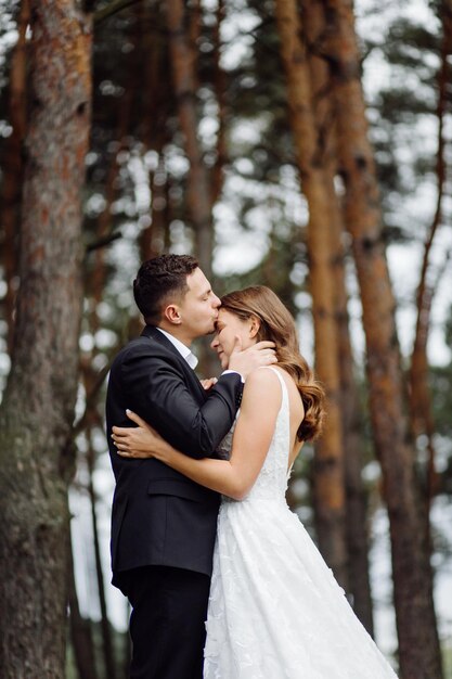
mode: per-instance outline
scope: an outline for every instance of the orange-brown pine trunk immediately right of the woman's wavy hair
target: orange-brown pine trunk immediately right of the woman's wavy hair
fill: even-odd
[[[326,387],[327,425],[315,447],[313,492],[320,550],[336,578],[347,588],[344,450],[338,402],[339,367],[334,308],[330,205],[322,167],[320,137],[312,108],[307,51],[300,40],[296,0],[276,1],[281,53],[287,74],[287,97],[301,190],[309,205],[309,280],[315,335],[315,368]]]

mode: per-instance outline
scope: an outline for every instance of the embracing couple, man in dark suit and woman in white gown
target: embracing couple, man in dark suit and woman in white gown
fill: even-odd
[[[133,291],[146,326],[106,408],[130,677],[395,679],[285,502],[323,418],[287,309],[263,286],[220,302],[190,256],[144,262]],[[190,347],[211,333],[223,372],[202,384]]]

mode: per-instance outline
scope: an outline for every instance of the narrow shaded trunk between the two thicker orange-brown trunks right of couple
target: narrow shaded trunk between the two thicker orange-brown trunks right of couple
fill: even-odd
[[[327,63],[315,54],[314,46],[325,29],[324,13],[315,0],[302,0],[301,16],[308,44],[315,124],[322,148],[322,165],[330,205],[330,238],[332,246],[334,307],[338,345],[340,417],[344,447],[346,490],[346,541],[348,591],[353,610],[361,623],[373,635],[372,597],[369,577],[369,536],[366,497],[362,481],[363,440],[360,407],[353,374],[353,355],[350,341],[348,293],[346,286],[345,225],[334,179],[337,172],[337,143],[332,81]]]

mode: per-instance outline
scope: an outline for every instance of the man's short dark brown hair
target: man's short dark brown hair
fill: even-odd
[[[198,266],[191,255],[160,255],[141,265],[133,281],[133,296],[146,323],[159,323],[164,305],[185,295],[186,277]]]

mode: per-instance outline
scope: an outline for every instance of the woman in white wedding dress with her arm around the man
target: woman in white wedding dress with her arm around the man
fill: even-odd
[[[214,554],[205,679],[396,679],[285,501],[302,443],[323,419],[323,392],[298,349],[294,319],[268,287],[225,295],[211,347],[276,345],[277,363],[246,380],[240,415],[218,451],[194,460],[137,414],[113,427],[118,453],[155,457],[223,496]]]

